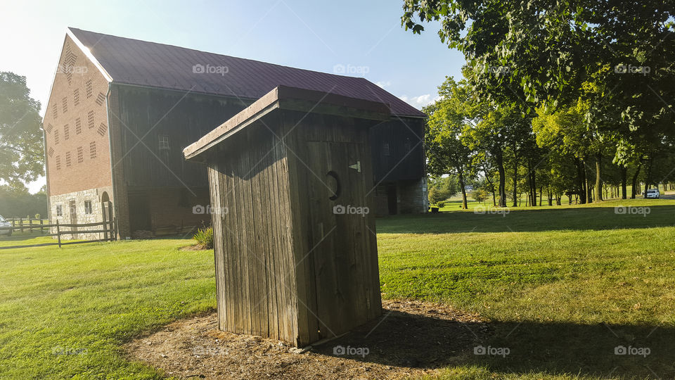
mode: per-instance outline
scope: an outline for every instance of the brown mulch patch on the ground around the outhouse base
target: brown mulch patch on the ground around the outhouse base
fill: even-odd
[[[486,320],[447,305],[383,300],[383,309],[380,319],[304,352],[219,331],[215,313],[176,321],[126,349],[131,360],[179,379],[399,379],[462,362],[489,334]]]

